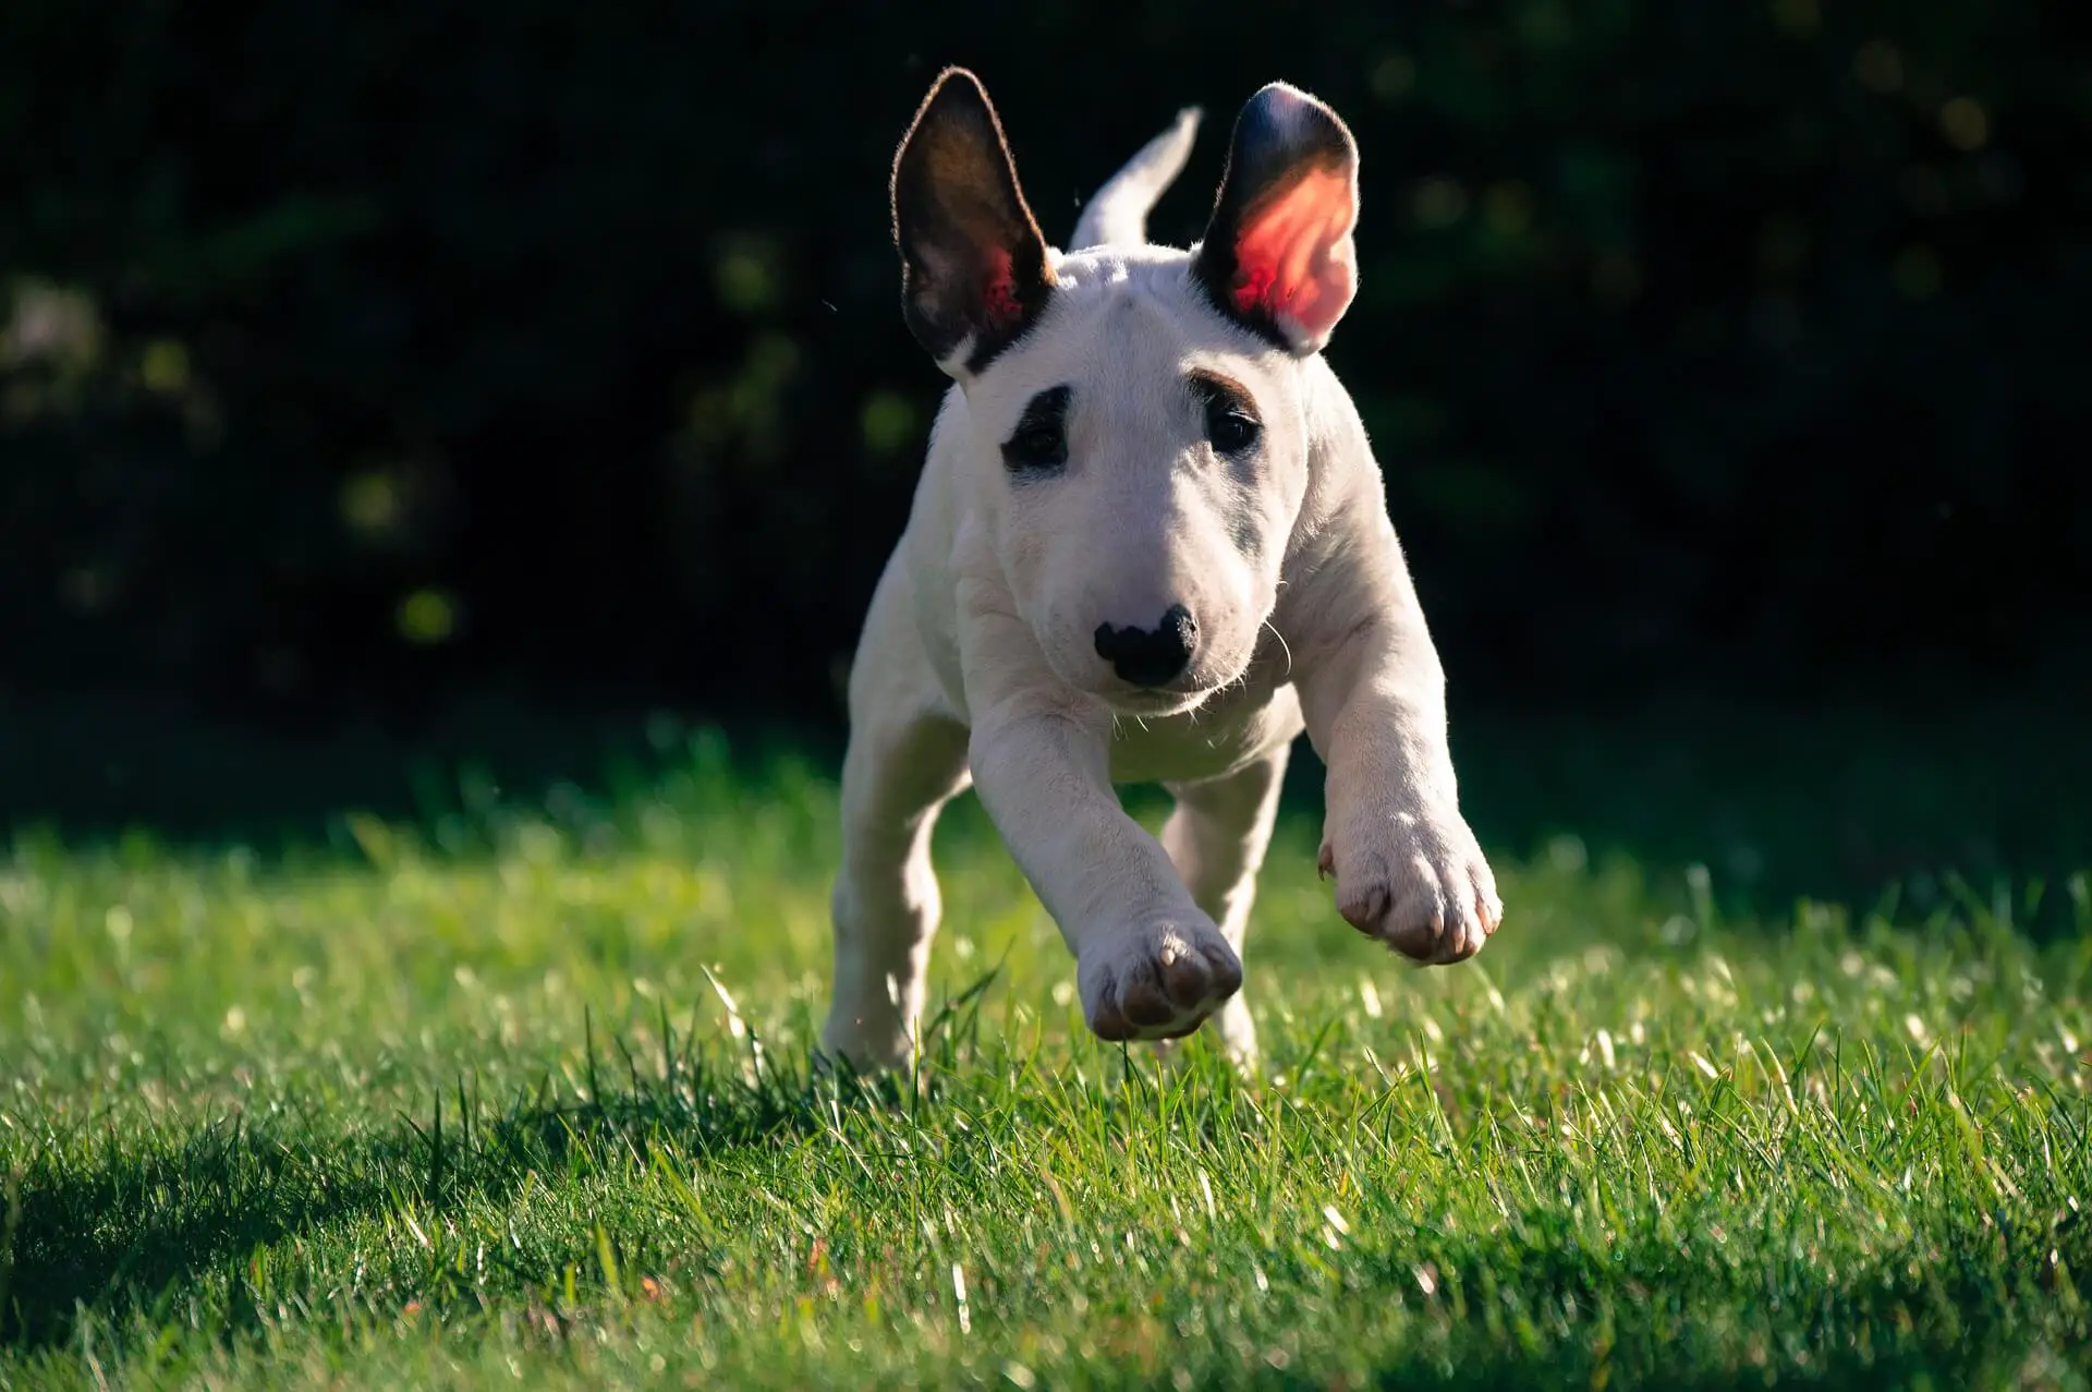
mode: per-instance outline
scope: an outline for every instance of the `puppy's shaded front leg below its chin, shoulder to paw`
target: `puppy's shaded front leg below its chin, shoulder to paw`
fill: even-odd
[[[1190,1034],[1243,984],[1243,963],[1163,848],[1111,787],[1098,703],[1008,699],[977,716],[973,785],[1075,952],[1098,1038]]]

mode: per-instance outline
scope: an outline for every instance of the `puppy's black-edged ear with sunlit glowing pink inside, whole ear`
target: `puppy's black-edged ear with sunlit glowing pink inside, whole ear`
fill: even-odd
[[[1358,144],[1337,113],[1274,82],[1234,119],[1192,274],[1222,314],[1308,356],[1358,291]]]

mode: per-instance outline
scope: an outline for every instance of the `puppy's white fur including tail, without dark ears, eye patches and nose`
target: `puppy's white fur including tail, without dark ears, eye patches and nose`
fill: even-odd
[[[1176,138],[1188,147],[1184,117],[1115,184],[1153,201],[1167,182],[1153,172],[1182,165]],[[1121,201],[1086,230],[1142,216]],[[1215,312],[1188,251],[1107,237],[1052,260],[1044,318],[979,377],[948,368],[849,676],[822,1047],[860,1068],[914,1045],[939,915],[931,827],[969,779],[1107,1034],[1174,1036],[1220,1013],[1224,1042],[1253,1055],[1243,934],[1303,728],[1328,766],[1322,862],[1347,919],[1443,963],[1477,952],[1502,913],[1458,812],[1443,676],[1381,469],[1335,373]],[[1205,444],[1190,368],[1251,389],[1253,467]],[[1000,444],[1063,383],[1067,471],[1013,488]],[[1092,634],[1172,603],[1197,615],[1190,670],[1140,693]],[[1113,785],[1132,781],[1178,800],[1159,841],[1119,806]],[[1167,1019],[1128,1028],[1130,1007],[1157,1001]]]

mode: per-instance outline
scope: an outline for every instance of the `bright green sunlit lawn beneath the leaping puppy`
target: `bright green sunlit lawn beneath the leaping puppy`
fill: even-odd
[[[1559,837],[1412,971],[1295,814],[1245,1082],[1088,1038],[964,802],[860,1086],[818,777],[471,802],[0,858],[0,1388],[2088,1386],[2082,875],[1757,923]]]

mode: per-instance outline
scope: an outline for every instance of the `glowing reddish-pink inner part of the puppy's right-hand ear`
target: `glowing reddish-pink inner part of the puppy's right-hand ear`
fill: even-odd
[[[1320,345],[1351,304],[1351,224],[1343,170],[1310,170],[1257,207],[1234,239],[1234,306],[1266,312]]]

